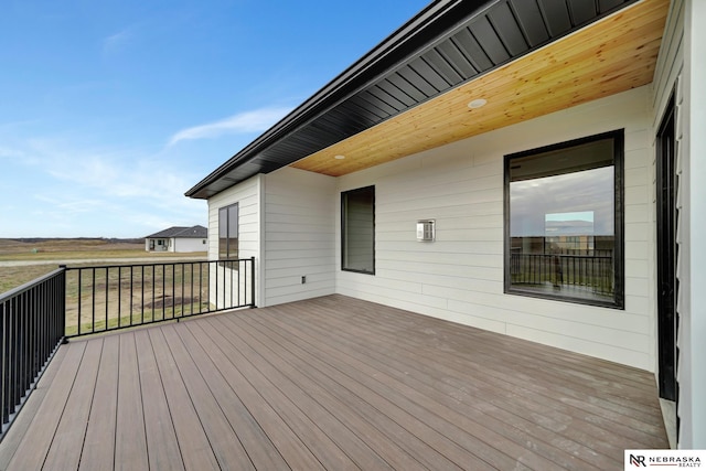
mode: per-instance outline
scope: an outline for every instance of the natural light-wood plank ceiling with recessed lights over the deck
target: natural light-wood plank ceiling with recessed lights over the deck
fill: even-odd
[[[290,167],[340,176],[650,84],[667,10],[627,7]]]

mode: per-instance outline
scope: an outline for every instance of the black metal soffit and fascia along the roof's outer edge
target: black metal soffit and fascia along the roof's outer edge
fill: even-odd
[[[635,1],[432,2],[186,196],[208,199],[289,165]]]

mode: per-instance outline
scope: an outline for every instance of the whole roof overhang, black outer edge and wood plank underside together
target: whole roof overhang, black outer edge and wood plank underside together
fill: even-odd
[[[186,195],[286,165],[343,175],[649,84],[667,10],[668,0],[435,2]],[[469,108],[478,98],[485,106]]]

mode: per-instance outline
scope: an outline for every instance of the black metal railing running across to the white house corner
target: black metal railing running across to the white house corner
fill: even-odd
[[[255,258],[66,268],[66,336],[255,307]]]

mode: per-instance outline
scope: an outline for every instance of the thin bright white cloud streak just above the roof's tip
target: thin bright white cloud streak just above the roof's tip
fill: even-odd
[[[170,138],[169,144],[172,146],[190,139],[212,139],[224,135],[263,132],[289,111],[290,108],[270,107],[239,113],[220,121],[182,129]]]

